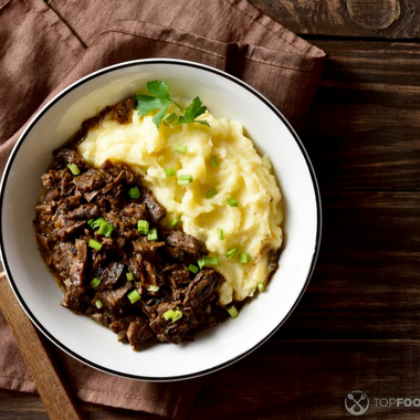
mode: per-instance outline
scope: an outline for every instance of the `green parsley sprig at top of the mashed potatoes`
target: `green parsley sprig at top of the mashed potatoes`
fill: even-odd
[[[147,91],[150,95],[135,95],[137,101],[136,109],[138,111],[138,115],[146,115],[153,111],[158,111],[153,118],[153,122],[158,129],[161,120],[166,116],[169,105],[175,105],[180,111],[180,114],[171,113],[165,119],[168,124],[175,123],[175,125],[179,125],[199,123],[210,127],[210,124],[206,119],[197,119],[207,111],[207,107],[202,105],[202,102],[198,96],[192,99],[187,108],[183,108],[170,97],[169,87],[165,81],[153,81],[147,83]]]

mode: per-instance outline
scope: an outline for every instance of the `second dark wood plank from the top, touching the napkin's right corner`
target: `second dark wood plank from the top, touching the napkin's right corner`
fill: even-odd
[[[419,190],[420,45],[314,41],[328,54],[303,140],[323,190]]]

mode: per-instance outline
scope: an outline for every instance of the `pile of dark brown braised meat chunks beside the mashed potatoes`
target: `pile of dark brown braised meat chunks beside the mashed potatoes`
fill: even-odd
[[[132,113],[133,104],[122,103],[113,118],[124,124]],[[224,277],[212,269],[190,271],[206,246],[164,227],[166,209],[128,166],[106,160],[95,169],[63,148],[41,180],[34,227],[65,291],[63,306],[108,327],[134,350],[148,340],[192,339],[222,321],[217,303]]]

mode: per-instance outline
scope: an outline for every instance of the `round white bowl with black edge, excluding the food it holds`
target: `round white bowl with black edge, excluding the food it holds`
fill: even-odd
[[[283,193],[285,243],[265,293],[240,316],[197,335],[192,343],[157,344],[135,353],[109,329],[62,307],[63,294],[43,263],[32,221],[40,177],[52,150],[82,122],[165,80],[172,96],[200,96],[212,114],[243,123],[260,154],[269,154]],[[219,70],[178,60],[113,65],[73,83],[51,99],[20,136],[1,182],[1,254],[10,284],[40,330],[76,359],[109,374],[168,381],[221,369],[272,336],[302,297],[321,240],[319,191],[309,158],[284,116],[260,93]]]

